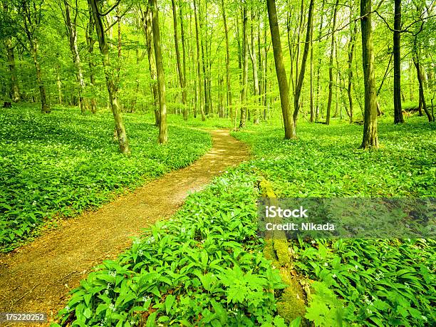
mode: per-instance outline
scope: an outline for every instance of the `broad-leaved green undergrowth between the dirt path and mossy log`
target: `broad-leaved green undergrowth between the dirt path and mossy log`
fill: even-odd
[[[285,326],[278,271],[256,237],[254,175],[231,171],[188,197],[116,261],[81,281],[63,326]]]

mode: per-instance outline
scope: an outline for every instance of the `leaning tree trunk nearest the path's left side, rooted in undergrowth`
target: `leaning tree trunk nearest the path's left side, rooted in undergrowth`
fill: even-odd
[[[113,118],[115,120],[115,129],[118,135],[118,145],[120,152],[123,154],[130,153],[128,135],[125,132],[123,117],[121,116],[120,103],[118,102],[117,90],[113,79],[113,69],[110,65],[109,46],[106,41],[105,27],[101,20],[100,10],[97,0],[88,0],[93,11],[93,18],[95,23],[95,31],[97,33],[98,45],[102,55],[103,69],[105,72],[106,87],[108,88],[110,107],[112,109]]]

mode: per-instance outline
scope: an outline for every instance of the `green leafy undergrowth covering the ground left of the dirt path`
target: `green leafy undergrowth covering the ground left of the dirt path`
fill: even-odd
[[[0,113],[0,251],[33,237],[53,217],[71,217],[168,170],[185,167],[212,146],[207,133],[170,127],[170,142],[142,115],[125,115],[132,155],[118,152],[110,113],[80,115],[16,107]]]

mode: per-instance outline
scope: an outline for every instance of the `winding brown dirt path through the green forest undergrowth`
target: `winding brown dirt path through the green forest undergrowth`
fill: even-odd
[[[211,134],[212,150],[189,167],[149,182],[96,212],[63,221],[58,229],[31,244],[1,255],[0,312],[45,312],[52,320],[66,305],[68,291],[78,286],[93,266],[115,259],[130,246],[131,236],[170,217],[187,194],[248,157],[245,145],[228,131]]]

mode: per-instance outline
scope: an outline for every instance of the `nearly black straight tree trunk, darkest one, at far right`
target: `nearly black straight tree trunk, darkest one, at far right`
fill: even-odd
[[[401,108],[401,0],[395,0],[394,32],[393,32],[393,58],[394,58],[394,123],[404,123]]]

